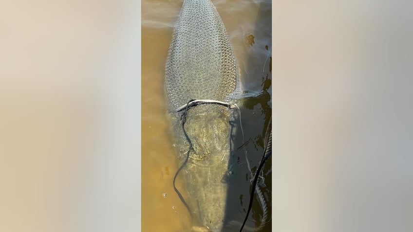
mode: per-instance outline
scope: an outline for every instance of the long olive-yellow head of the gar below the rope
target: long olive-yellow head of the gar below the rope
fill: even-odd
[[[185,124],[192,147],[183,169],[188,201],[191,213],[211,232],[221,232],[224,226],[228,186],[223,179],[228,175],[229,166],[229,115],[225,107],[188,111]],[[181,160],[190,148],[184,138],[181,136]]]

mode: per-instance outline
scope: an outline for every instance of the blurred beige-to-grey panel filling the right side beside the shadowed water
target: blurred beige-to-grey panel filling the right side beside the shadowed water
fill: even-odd
[[[274,231],[413,231],[412,9],[274,2]]]

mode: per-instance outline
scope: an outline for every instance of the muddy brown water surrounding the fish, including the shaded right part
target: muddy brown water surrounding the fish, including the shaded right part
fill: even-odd
[[[231,167],[226,209],[231,225],[225,232],[239,231],[239,223],[248,208],[250,172],[246,159],[255,171],[263,153],[263,132],[271,116],[271,1],[214,0],[232,44],[240,78],[244,86],[240,106],[244,138],[234,138],[235,147],[248,141],[233,153],[238,160]],[[164,70],[173,25],[181,0],[142,1],[142,231],[181,232],[190,228],[190,217],[173,190],[172,178],[179,167],[172,147],[166,115]],[[247,158],[246,158],[247,157]],[[260,185],[271,218],[271,159],[264,167],[264,183]],[[178,189],[185,189],[182,177]],[[181,191],[188,198],[185,191]],[[261,224],[263,210],[253,203],[247,225]],[[263,231],[271,230],[266,220]]]

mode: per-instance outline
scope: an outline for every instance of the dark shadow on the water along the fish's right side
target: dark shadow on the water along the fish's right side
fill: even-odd
[[[259,4],[255,30],[252,35],[245,35],[250,48],[247,67],[240,73],[246,87],[244,93],[250,91],[259,94],[241,100],[240,113],[236,113],[237,116],[232,122],[232,152],[226,179],[228,194],[223,232],[240,231],[248,209],[251,181],[264,151],[265,130],[271,119],[271,1],[266,0]],[[257,83],[261,83],[261,86]],[[263,209],[256,194],[243,230],[245,232],[255,231],[262,223],[265,225],[260,231],[271,231],[271,173],[271,158],[269,158],[263,168],[262,181],[257,185],[265,199],[266,220],[262,221]]]

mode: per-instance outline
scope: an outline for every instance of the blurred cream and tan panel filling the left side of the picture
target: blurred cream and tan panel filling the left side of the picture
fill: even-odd
[[[0,231],[140,228],[140,2],[0,7]]]

